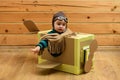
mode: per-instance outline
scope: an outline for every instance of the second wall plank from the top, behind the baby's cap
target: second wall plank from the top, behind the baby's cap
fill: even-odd
[[[20,23],[33,20],[39,23],[51,23],[52,12],[0,12],[1,23]],[[65,13],[71,23],[80,22],[120,22],[120,13]]]

